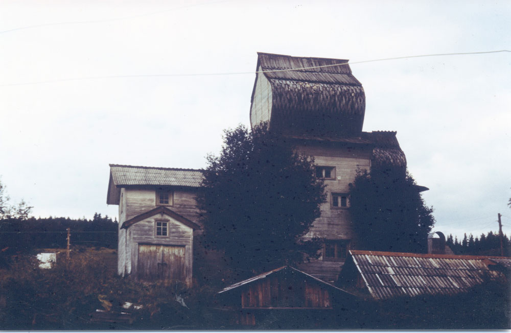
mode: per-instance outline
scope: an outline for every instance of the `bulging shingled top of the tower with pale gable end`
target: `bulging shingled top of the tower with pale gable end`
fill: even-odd
[[[359,136],[365,94],[347,60],[258,53],[250,123],[286,134]]]

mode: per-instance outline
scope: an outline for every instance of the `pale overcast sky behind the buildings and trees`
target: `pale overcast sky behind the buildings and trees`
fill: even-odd
[[[257,52],[357,62],[511,50],[509,22],[509,1],[4,0],[2,182],[35,217],[117,217],[109,163],[203,168],[223,129],[249,126],[255,74],[198,74],[253,72]],[[511,53],[351,67],[363,130],[398,132],[435,230],[496,231],[500,212],[511,234]]]

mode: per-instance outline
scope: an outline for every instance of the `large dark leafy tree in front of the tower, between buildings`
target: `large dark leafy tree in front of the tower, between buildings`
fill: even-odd
[[[197,198],[203,245],[224,251],[245,276],[314,255],[318,242],[300,238],[326,200],[313,160],[266,125],[251,131],[240,125],[223,139],[220,155],[207,157]]]

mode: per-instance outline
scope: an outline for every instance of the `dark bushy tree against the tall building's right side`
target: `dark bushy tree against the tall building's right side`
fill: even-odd
[[[357,248],[424,252],[434,218],[416,183],[401,170],[359,171],[350,186]]]

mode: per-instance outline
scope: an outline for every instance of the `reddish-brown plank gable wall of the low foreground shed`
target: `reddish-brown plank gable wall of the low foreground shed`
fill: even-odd
[[[330,308],[328,290],[304,279],[268,276],[241,293],[242,308]]]

